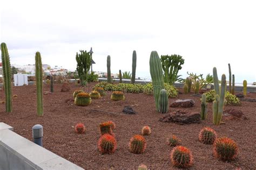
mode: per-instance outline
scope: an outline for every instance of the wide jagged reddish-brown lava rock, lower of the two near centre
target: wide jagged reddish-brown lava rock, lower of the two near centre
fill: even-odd
[[[159,119],[160,122],[172,122],[176,124],[191,124],[200,123],[200,113],[192,112],[188,113],[186,111],[174,111],[170,114],[165,115],[163,118]]]

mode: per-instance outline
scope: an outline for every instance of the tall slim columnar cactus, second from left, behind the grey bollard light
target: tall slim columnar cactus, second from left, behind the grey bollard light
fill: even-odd
[[[36,52],[37,115],[43,116],[43,69],[41,54]]]

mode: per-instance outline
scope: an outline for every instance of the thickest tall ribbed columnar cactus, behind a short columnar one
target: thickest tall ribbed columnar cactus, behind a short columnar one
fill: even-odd
[[[152,51],[150,55],[150,75],[153,84],[154,102],[156,103],[156,110],[159,111],[159,96],[160,90],[164,89],[164,78],[161,61],[156,51]]]

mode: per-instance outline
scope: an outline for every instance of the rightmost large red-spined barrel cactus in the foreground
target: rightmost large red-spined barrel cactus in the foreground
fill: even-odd
[[[237,144],[230,138],[217,138],[213,145],[215,157],[224,161],[233,160],[238,154]]]

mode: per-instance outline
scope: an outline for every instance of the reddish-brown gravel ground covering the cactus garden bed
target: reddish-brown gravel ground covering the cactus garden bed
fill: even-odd
[[[90,83],[93,86],[95,83]],[[53,94],[44,95],[44,116],[36,115],[36,86],[13,87],[13,112],[5,112],[5,104],[0,104],[0,122],[14,127],[14,131],[32,140],[31,128],[35,124],[44,127],[43,145],[46,149],[64,157],[85,169],[137,169],[140,164],[150,169],[175,169],[170,161],[172,147],[167,145],[167,138],[175,134],[181,139],[181,144],[190,148],[194,165],[193,169],[256,169],[255,132],[256,132],[256,103],[244,102],[240,109],[247,120],[226,121],[215,126],[212,123],[212,103],[208,105],[206,121],[200,124],[178,125],[161,123],[163,117],[155,110],[153,96],[145,94],[125,94],[125,101],[111,101],[110,93],[99,100],[93,100],[88,107],[73,105],[72,93],[79,89],[71,84],[70,92],[60,92],[61,85],[55,84]],[[44,86],[44,91],[50,91]],[[256,98],[256,94],[248,94]],[[181,94],[169,100],[169,104],[177,99],[192,98],[196,101],[193,108],[186,111],[200,111],[199,97]],[[0,91],[0,101],[4,101],[4,91]],[[131,105],[137,115],[125,115],[122,110],[125,105]],[[91,109],[114,112],[91,111]],[[180,108],[170,108],[169,111]],[[99,123],[113,121],[117,128],[113,131],[117,139],[117,150],[113,154],[100,154],[97,141],[100,137]],[[86,132],[77,134],[74,131],[76,123],[85,124]],[[146,136],[147,147],[143,154],[133,154],[129,151],[129,139],[134,134],[140,134],[144,125],[151,127],[152,133]],[[213,156],[212,145],[199,142],[198,133],[205,126],[213,128],[219,137],[229,137],[239,146],[238,157],[231,162],[217,160]]]

